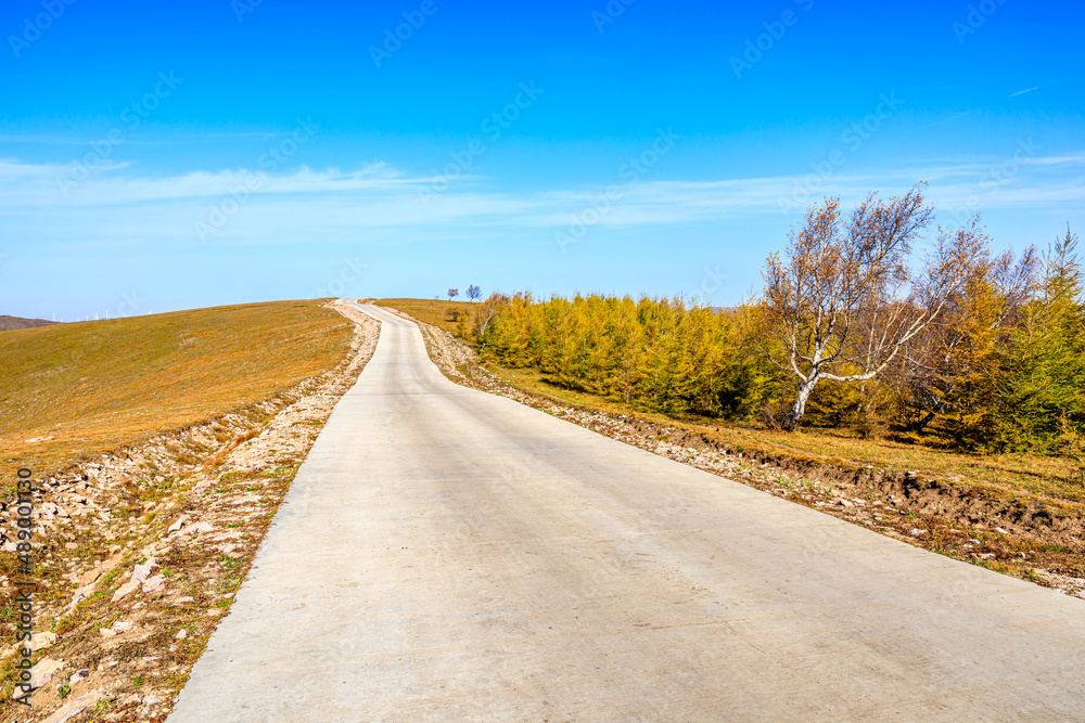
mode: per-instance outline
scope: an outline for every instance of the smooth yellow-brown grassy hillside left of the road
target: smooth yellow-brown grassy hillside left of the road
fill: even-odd
[[[352,324],[276,301],[0,334],[5,468],[48,474],[266,399],[332,369]],[[29,441],[38,440],[38,441]]]

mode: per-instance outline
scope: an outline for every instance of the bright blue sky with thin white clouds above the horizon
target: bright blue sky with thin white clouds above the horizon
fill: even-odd
[[[884,4],[884,7],[882,7]],[[825,194],[1085,223],[1081,2],[0,10],[0,313],[603,292],[735,302]],[[396,38],[398,31],[399,38]]]

